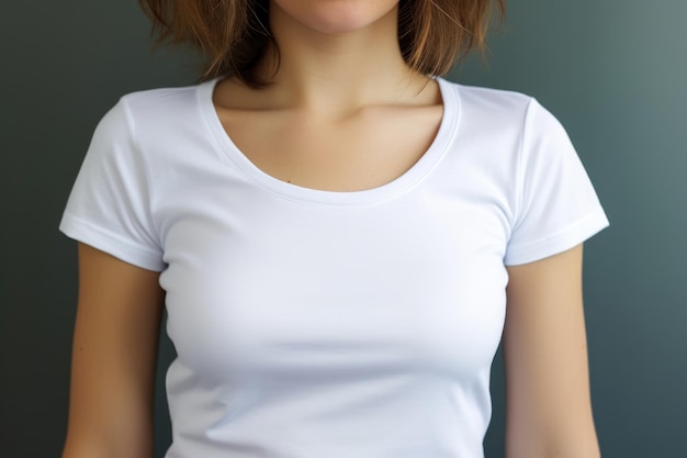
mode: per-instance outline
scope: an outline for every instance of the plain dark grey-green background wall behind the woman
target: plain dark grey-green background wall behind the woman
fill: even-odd
[[[0,34],[1,454],[57,457],[77,289],[61,210],[116,99],[193,82],[194,64],[149,53],[134,0],[3,2]],[[451,75],[537,97],[568,130],[611,220],[585,271],[606,458],[687,457],[686,45],[685,0],[511,1],[488,65],[471,58]],[[164,342],[160,366],[171,357]],[[489,458],[503,456],[500,377],[497,362]],[[161,457],[161,391],[156,409]]]

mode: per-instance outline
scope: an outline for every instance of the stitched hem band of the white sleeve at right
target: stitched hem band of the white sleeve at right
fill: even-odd
[[[608,227],[608,219],[604,211],[599,210],[590,213],[553,236],[517,246],[509,246],[508,253],[504,258],[504,265],[518,266],[565,252],[585,242]]]

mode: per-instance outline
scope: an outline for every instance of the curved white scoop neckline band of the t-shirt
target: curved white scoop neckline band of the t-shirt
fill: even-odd
[[[451,83],[443,78],[436,78],[443,103],[443,113],[437,134],[425,154],[403,175],[375,188],[359,191],[327,191],[305,188],[282,181],[260,168],[236,146],[224,130],[213,103],[214,88],[222,78],[215,78],[198,86],[198,102],[201,114],[223,157],[229,161],[254,185],[279,197],[329,205],[369,205],[393,200],[412,190],[435,168],[444,156],[459,124],[459,99]]]

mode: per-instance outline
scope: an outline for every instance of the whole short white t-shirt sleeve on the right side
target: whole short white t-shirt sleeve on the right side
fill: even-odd
[[[519,160],[506,265],[532,262],[573,248],[608,226],[565,130],[536,100],[528,108]]]

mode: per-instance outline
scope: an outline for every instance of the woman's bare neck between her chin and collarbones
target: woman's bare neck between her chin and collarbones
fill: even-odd
[[[272,2],[270,25],[279,60],[268,53],[263,70],[274,76],[263,91],[277,105],[339,118],[369,104],[413,103],[427,82],[401,54],[397,7],[364,26],[333,32],[308,26]]]

